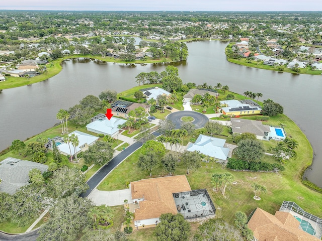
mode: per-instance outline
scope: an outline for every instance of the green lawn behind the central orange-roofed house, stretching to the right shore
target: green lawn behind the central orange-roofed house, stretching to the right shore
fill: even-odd
[[[202,163],[202,166],[190,175],[187,175],[192,189],[207,188],[212,200],[217,208],[217,217],[232,222],[234,213],[237,210],[245,211],[250,214],[256,207],[274,213],[279,209],[284,200],[295,201],[307,212],[322,217],[322,203],[320,202],[322,194],[308,189],[300,181],[301,171],[312,161],[312,148],[300,129],[286,116],[280,114],[270,118],[270,125],[279,125],[285,123],[286,133],[291,133],[299,143],[296,149],[297,159],[290,160],[285,164],[286,170],[282,173],[264,173],[264,172],[234,172],[222,169],[221,165],[215,164],[214,168]],[[264,142],[264,141],[263,141]],[[269,142],[267,142],[269,143]],[[265,148],[274,145],[266,144]],[[126,187],[126,182],[149,178],[147,172],[138,169],[136,163],[140,155],[140,150],[133,153],[122,164],[120,164],[104,181],[99,185],[99,190],[117,190]],[[272,157],[265,156],[263,161],[276,162]],[[236,184],[227,187],[226,197],[212,190],[211,174],[229,172],[235,177]],[[179,163],[178,169],[174,175],[185,174],[186,169]],[[161,166],[152,170],[152,177],[162,177],[167,175]],[[254,192],[251,185],[257,182],[266,186],[268,193],[262,194],[262,200],[253,199]],[[236,209],[236,207],[238,207]],[[153,240],[153,239],[151,239]]]

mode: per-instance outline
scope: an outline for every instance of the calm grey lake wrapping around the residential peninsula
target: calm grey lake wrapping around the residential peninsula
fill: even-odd
[[[314,162],[308,179],[322,187],[322,76],[278,73],[229,63],[226,42],[187,43],[188,60],[176,63],[184,83],[204,82],[228,85],[237,93],[260,92],[284,106],[284,112],[301,128],[314,150]],[[98,96],[105,89],[124,91],[136,86],[140,72],[165,69],[165,64],[116,64],[98,60],[75,59],[62,63],[62,71],[40,83],[5,89],[0,94],[0,149],[13,140],[25,140],[58,123],[56,113],[68,109],[89,94]]]

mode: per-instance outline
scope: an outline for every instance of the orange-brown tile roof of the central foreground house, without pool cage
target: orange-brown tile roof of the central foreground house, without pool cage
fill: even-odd
[[[135,209],[134,220],[160,217],[163,213],[176,214],[173,193],[191,191],[185,175],[142,179],[131,182],[132,199],[144,198]]]

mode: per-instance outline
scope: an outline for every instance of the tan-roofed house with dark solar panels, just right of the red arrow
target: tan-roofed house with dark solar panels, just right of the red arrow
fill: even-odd
[[[143,107],[145,112],[149,110],[149,106],[147,104],[133,103],[124,100],[117,100],[112,104],[112,114],[114,116],[128,118],[128,114],[131,110],[134,110],[138,107]]]

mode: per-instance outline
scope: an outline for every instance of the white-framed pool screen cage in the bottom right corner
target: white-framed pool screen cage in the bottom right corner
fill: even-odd
[[[299,205],[295,202],[284,201],[279,211],[289,212],[293,216],[299,217],[304,221],[308,221],[311,226],[314,228],[315,234],[314,236],[317,238],[321,238],[322,236],[322,219],[304,211]],[[306,230],[304,230],[306,231]]]

